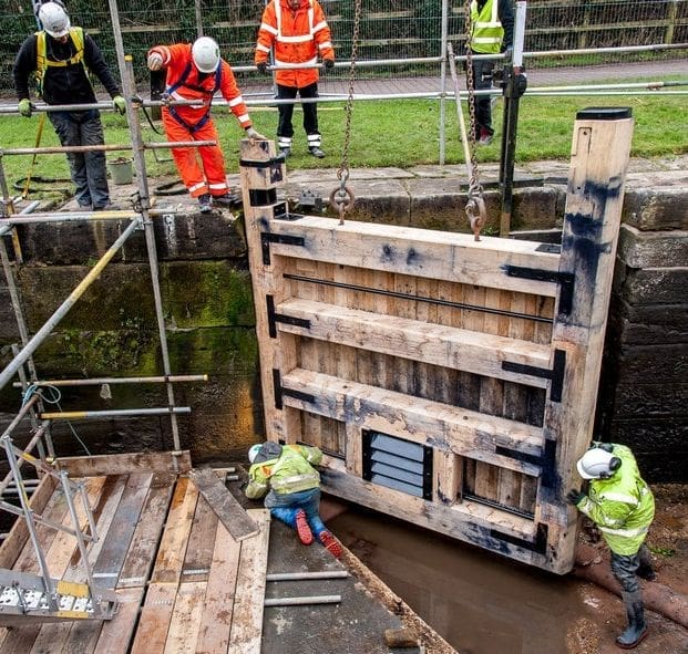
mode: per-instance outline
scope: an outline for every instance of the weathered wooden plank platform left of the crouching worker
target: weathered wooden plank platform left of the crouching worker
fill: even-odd
[[[96,583],[117,593],[117,613],[111,621],[1,629],[0,654],[259,654],[269,511],[249,509],[258,531],[238,541],[189,479],[187,455],[176,469],[168,453],[97,458],[64,467],[72,478],[83,475],[100,537],[89,559]],[[64,496],[50,478],[33,497],[37,513],[66,523]],[[234,518],[224,509],[224,521],[245,525],[238,505]],[[0,562],[38,573],[27,532],[16,527]],[[53,578],[85,581],[74,538],[45,527],[39,537]]]

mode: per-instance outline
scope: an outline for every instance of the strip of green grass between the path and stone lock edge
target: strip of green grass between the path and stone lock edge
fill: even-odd
[[[479,162],[496,162],[500,156],[502,102],[493,112],[495,139],[478,150]],[[521,101],[516,163],[538,159],[568,160],[573,123],[576,112],[588,106],[629,106],[635,118],[631,146],[634,157],[670,157],[688,153],[688,102],[685,96],[656,95],[535,97],[527,95]],[[227,172],[238,170],[239,139],[244,132],[225,107],[214,112],[226,156]],[[255,127],[269,138],[275,138],[277,111],[269,107],[251,107]],[[294,116],[295,139],[289,168],[307,169],[339,167],[343,148],[346,112],[339,103],[321,103],[319,106],[322,147],[328,156],[316,159],[307,154],[306,136],[301,128],[301,112]],[[453,101],[445,105],[446,146],[445,163],[461,164],[463,149],[459,139],[456,107]],[[466,116],[468,121],[468,116]],[[408,168],[422,164],[438,164],[440,152],[440,103],[430,100],[396,100],[357,103],[351,120],[349,167],[374,168],[397,166]],[[33,147],[39,118],[14,116],[0,118],[0,147]],[[103,114],[106,143],[129,143],[129,128],[124,117],[114,113]],[[161,126],[162,131],[162,126]],[[164,135],[155,134],[144,123],[144,141],[163,142]],[[41,145],[58,145],[49,122],[45,123]],[[122,153],[110,153],[109,157]],[[158,159],[168,159],[170,153],[157,150]],[[25,177],[31,167],[31,156],[4,156],[2,166],[10,184]],[[172,162],[158,163],[153,152],[146,153],[147,173],[152,177],[174,175]],[[32,170],[33,177],[66,179],[69,177],[64,155],[40,155]],[[69,188],[69,183],[40,185],[54,188],[55,194]],[[39,185],[35,185],[38,188]]]

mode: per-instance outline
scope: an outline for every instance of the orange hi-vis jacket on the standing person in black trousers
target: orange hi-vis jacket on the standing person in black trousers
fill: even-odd
[[[268,61],[275,48],[275,65],[317,63],[320,59],[335,59],[330,28],[318,0],[301,0],[294,11],[287,0],[270,0],[263,12],[258,30],[255,63]],[[275,80],[283,86],[302,89],[319,79],[318,69],[277,71]]]

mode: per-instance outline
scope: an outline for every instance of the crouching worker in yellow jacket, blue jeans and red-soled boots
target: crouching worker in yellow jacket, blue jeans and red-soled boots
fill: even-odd
[[[271,516],[298,533],[304,544],[317,539],[339,558],[341,546],[320,519],[320,475],[314,466],[322,460],[322,451],[306,445],[263,443],[250,447],[246,497],[265,497]]]

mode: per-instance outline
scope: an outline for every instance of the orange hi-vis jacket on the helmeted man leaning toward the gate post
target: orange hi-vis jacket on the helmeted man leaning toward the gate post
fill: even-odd
[[[197,105],[176,105],[177,113],[188,125],[198,124],[208,113],[213,95],[219,89],[223,97],[229,103],[232,113],[238,118],[242,127],[250,127],[250,117],[244,97],[236,83],[229,64],[219,61],[217,73],[203,74],[193,63],[192,44],[175,43],[174,45],[155,45],[148,51],[163,58],[163,66],[167,69],[166,91],[174,100],[197,100]],[[191,68],[189,68],[191,64]],[[219,76],[219,85],[217,77]]]

